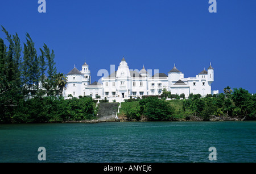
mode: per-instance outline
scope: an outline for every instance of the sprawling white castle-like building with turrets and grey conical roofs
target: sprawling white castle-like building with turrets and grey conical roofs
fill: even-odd
[[[112,102],[123,101],[130,97],[156,96],[162,93],[165,88],[171,94],[185,94],[187,98],[190,93],[201,94],[205,97],[207,94],[217,94],[218,90],[212,90],[211,85],[214,81],[214,71],[212,66],[206,71],[200,72],[196,77],[184,78],[175,66],[168,72],[150,73],[143,68],[141,71],[130,71],[125,58],[123,57],[117,71],[108,77],[102,77],[101,82],[93,82],[91,84],[91,76],[89,66],[84,63],[82,70],[76,67],[67,74],[67,88],[63,91],[63,96],[73,97],[79,96],[101,96]]]

